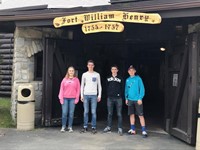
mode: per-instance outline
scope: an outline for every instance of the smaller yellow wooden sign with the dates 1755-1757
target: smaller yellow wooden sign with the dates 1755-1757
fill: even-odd
[[[124,25],[119,22],[96,22],[82,25],[85,34],[97,32],[122,32]]]

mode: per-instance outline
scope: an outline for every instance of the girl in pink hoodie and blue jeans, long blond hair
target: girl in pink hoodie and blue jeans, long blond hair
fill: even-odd
[[[75,76],[74,67],[67,69],[67,74],[60,84],[59,100],[62,105],[62,128],[61,132],[65,132],[68,120],[68,131],[73,132],[72,124],[74,118],[75,104],[79,101],[80,81]],[[67,119],[68,117],[68,119]]]

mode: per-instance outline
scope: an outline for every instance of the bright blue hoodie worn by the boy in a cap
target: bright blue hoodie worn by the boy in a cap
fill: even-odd
[[[126,79],[125,85],[125,99],[131,101],[142,100],[145,89],[140,76],[136,75]]]

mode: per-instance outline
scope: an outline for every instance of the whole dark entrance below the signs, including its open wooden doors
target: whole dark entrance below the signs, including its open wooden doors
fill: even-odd
[[[101,75],[102,101],[98,104],[98,121],[106,121],[106,77],[110,66],[118,65],[119,75],[125,80],[127,68],[134,65],[143,79],[146,94],[144,113],[149,130],[164,131],[193,144],[197,102],[197,49],[191,42],[197,37],[187,37],[187,24],[174,20],[163,21],[162,25],[125,24],[122,33],[98,33],[84,35],[80,26],[63,28],[73,32],[72,39],[46,39],[44,56],[44,125],[60,124],[61,106],[58,100],[60,82],[67,67],[73,65],[81,79],[87,71],[86,62],[93,59],[95,71]],[[186,42],[188,39],[189,42]],[[193,43],[194,44],[194,43]],[[197,43],[196,43],[197,44]],[[166,48],[166,52],[160,48]],[[194,53],[192,53],[194,52]],[[195,58],[195,59],[193,59]],[[193,64],[189,63],[193,60]],[[192,74],[195,78],[188,79]],[[194,99],[191,99],[191,94]],[[191,105],[184,105],[184,104]],[[183,115],[182,115],[183,114]],[[127,107],[123,109],[124,126],[129,128]],[[116,116],[114,116],[116,119]],[[82,102],[76,106],[75,123],[83,121]],[[184,122],[184,125],[182,124]],[[137,121],[139,123],[139,121]],[[106,122],[105,122],[106,125]],[[139,124],[138,124],[139,127]],[[191,130],[188,131],[188,128]],[[190,133],[193,133],[192,137]]]

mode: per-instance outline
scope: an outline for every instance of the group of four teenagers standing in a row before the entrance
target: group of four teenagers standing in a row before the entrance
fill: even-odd
[[[88,131],[88,113],[89,105],[91,105],[91,132],[97,133],[96,130],[96,109],[97,103],[101,101],[102,87],[100,74],[94,71],[94,61],[88,60],[88,71],[82,74],[81,84],[76,77],[75,68],[70,66],[67,69],[66,76],[60,84],[59,100],[62,106],[62,128],[61,132],[73,132],[73,118],[75,105],[79,99],[83,102],[84,121],[83,128],[80,133]],[[131,65],[128,68],[129,77],[125,81],[125,91],[123,79],[118,75],[118,66],[111,66],[111,76],[107,78],[107,126],[103,130],[105,133],[110,133],[112,128],[113,109],[116,107],[118,117],[118,134],[123,135],[122,128],[122,93],[125,94],[125,104],[128,106],[128,115],[130,116],[130,130],[129,134],[136,134],[135,115],[138,115],[141,124],[141,134],[147,137],[145,119],[143,115],[142,99],[145,94],[144,84],[140,76],[136,75],[136,69]],[[79,98],[81,96],[81,98]],[[68,127],[67,127],[68,123]]]

